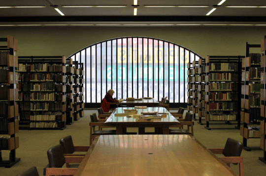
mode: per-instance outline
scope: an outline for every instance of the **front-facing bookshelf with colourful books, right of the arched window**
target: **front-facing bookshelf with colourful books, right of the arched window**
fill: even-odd
[[[241,56],[207,56],[205,77],[206,129],[209,123],[237,122],[240,127]]]

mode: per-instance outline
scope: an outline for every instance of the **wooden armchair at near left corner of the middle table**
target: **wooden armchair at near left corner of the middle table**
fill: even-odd
[[[109,135],[109,134],[116,134],[116,130],[102,130],[102,127],[115,127],[115,126],[109,126],[104,124],[104,122],[99,122],[96,116],[96,113],[93,113],[90,115],[91,122],[90,122],[90,145],[92,144],[95,137],[100,135]],[[95,127],[98,126],[99,130],[95,130]]]

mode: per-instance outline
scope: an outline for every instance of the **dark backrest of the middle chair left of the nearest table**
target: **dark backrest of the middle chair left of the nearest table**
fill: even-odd
[[[51,168],[62,168],[66,163],[61,144],[48,149],[47,156]]]

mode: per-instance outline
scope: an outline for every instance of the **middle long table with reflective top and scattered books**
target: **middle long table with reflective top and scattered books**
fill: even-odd
[[[143,111],[167,112],[165,118],[152,119],[151,121],[138,121],[138,117],[116,117],[115,114],[123,113],[124,109],[133,109],[132,107],[118,107],[105,121],[110,126],[116,126],[116,134],[126,134],[127,127],[138,127],[138,134],[145,133],[145,127],[155,127],[158,134],[169,134],[170,125],[179,125],[176,120],[164,107],[147,107],[146,109],[137,109],[137,114]]]

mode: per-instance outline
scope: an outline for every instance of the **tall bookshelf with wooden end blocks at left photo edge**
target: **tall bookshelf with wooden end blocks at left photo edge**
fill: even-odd
[[[0,38],[0,167],[10,168],[20,161],[18,105],[18,41],[12,36]],[[4,46],[3,46],[4,45]],[[2,151],[9,151],[9,160],[3,160]]]

